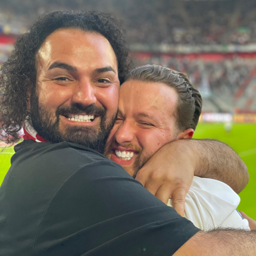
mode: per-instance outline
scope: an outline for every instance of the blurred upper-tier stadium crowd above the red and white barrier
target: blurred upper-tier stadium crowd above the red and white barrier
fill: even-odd
[[[129,43],[239,44],[256,42],[256,2],[227,1],[1,1],[0,26],[21,29],[54,10],[96,10],[124,21]],[[200,15],[198,15],[200,14]],[[3,18],[5,20],[3,20]]]

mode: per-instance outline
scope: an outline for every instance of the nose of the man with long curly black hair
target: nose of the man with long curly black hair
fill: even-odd
[[[97,101],[95,92],[96,88],[90,82],[77,83],[73,88],[72,103],[85,106],[94,104]]]

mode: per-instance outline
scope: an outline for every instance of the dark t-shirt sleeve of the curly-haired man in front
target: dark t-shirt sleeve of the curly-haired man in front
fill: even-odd
[[[172,255],[198,229],[123,168],[107,160],[79,168],[40,220],[35,255]]]

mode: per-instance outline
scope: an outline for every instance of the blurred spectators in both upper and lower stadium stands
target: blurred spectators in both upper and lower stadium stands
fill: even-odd
[[[21,35],[44,13],[55,10],[96,10],[113,14],[123,21],[130,48],[139,45],[256,45],[256,2],[226,1],[118,1],[118,0],[8,0],[0,2],[0,38]],[[200,14],[200,15],[198,15]],[[144,47],[144,48],[143,48]],[[0,42],[0,66],[13,46]],[[173,51],[173,53],[176,53]],[[245,80],[253,80],[253,58],[205,60],[151,54],[141,58],[132,54],[135,65],[161,64],[187,73],[203,96],[226,93],[235,96]],[[254,88],[248,83],[249,88]],[[248,93],[247,93],[248,94]],[[250,95],[250,93],[249,93]],[[246,96],[246,95],[245,95]]]

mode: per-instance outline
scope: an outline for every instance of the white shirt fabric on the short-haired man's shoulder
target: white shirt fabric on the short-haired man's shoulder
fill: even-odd
[[[186,195],[185,216],[202,230],[233,227],[249,230],[248,221],[236,210],[238,194],[223,182],[193,177]],[[171,199],[168,205],[171,206]]]

